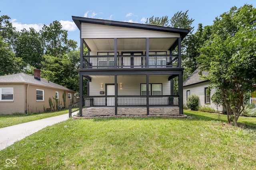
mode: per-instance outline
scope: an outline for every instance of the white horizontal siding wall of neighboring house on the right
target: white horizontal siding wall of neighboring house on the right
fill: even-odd
[[[187,86],[183,88],[183,104],[186,105],[187,102],[187,90],[190,90],[190,95],[191,94],[196,94],[197,96],[199,96],[199,107],[202,106],[208,106],[214,110],[217,110],[217,107],[215,106],[215,104],[212,102],[212,100],[210,100],[210,104],[206,104],[204,103],[204,89],[206,87],[209,86],[209,82],[204,82],[204,83],[200,83],[200,84],[195,84],[192,86]],[[212,97],[212,95],[214,94],[214,92],[216,91],[216,89],[211,89],[211,93],[210,93],[210,99]],[[218,107],[219,111],[226,111],[225,108]]]

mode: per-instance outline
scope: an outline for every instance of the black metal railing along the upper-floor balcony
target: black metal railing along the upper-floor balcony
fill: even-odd
[[[178,67],[178,55],[118,55],[116,68]],[[115,68],[114,56],[83,56],[83,68]]]

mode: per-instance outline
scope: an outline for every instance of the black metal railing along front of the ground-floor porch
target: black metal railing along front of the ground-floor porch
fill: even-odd
[[[179,96],[149,96],[149,106],[179,106]],[[146,96],[118,96],[117,106],[146,106]],[[115,106],[115,96],[83,96],[83,107]]]

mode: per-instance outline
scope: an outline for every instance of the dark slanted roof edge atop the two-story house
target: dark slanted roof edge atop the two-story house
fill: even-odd
[[[84,23],[94,23],[94,24],[100,24],[100,25],[111,25],[111,26],[118,26],[118,27],[130,27],[130,28],[137,28],[137,29],[146,29],[146,30],[151,30],[151,31],[163,31],[163,32],[180,33],[182,35],[182,39],[190,32],[189,29],[162,27],[162,26],[156,26],[156,25],[146,25],[146,24],[142,24],[142,23],[111,21],[111,20],[84,18],[84,17],[76,17],[76,16],[72,16],[72,20],[76,23],[76,26],[79,29],[80,29],[80,22],[84,22]]]

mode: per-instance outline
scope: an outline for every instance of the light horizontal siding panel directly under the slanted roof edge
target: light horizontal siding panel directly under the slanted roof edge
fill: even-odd
[[[178,33],[82,23],[81,38],[178,38]]]

